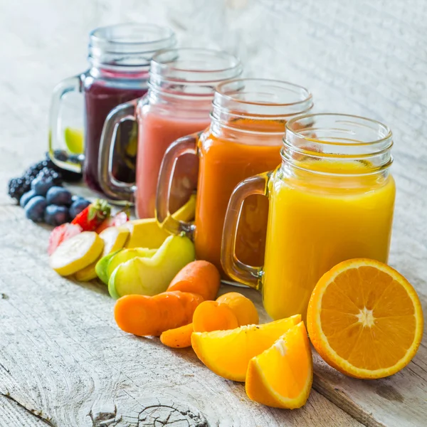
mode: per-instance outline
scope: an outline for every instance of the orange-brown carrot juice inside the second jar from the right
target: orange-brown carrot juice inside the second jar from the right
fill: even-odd
[[[247,130],[278,132],[283,122],[260,128],[257,122],[241,120]],[[223,132],[202,135],[199,141],[199,184],[196,201],[196,258],[208,260],[221,271],[221,238],[228,201],[243,179],[272,171],[280,164],[282,135],[238,135]],[[248,265],[263,265],[268,200],[249,196],[243,203],[236,236],[236,257]]]

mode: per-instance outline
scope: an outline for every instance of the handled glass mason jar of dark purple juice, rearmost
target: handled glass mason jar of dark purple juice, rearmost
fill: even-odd
[[[101,192],[97,162],[105,119],[117,105],[147,93],[153,54],[174,44],[175,36],[169,28],[153,24],[125,23],[92,31],[89,36],[89,70],[63,80],[53,91],[49,138],[53,162],[64,169],[83,171],[90,189]],[[63,97],[73,91],[83,93],[85,100],[83,153],[75,152],[70,142],[64,141],[64,130],[60,127]],[[112,174],[116,179],[135,181],[136,145],[134,124],[122,123],[112,158]]]

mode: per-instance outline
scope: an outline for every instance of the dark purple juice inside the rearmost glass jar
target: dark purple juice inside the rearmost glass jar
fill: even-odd
[[[91,80],[91,79],[88,79]],[[140,81],[140,80],[139,80]],[[83,176],[93,191],[102,193],[98,181],[98,153],[102,127],[108,113],[117,105],[147,93],[147,88],[114,88],[105,80],[95,80],[85,85],[85,162]],[[142,86],[142,84],[141,84]],[[112,174],[118,181],[135,182],[137,156],[137,124],[127,120],[117,130],[117,139],[112,156]]]

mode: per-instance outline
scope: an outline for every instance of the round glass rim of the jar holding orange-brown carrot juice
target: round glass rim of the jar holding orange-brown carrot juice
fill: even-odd
[[[224,91],[224,88],[227,85],[231,85],[231,84],[235,84],[238,82],[250,82],[250,83],[270,83],[270,84],[275,84],[275,85],[280,85],[282,86],[282,88],[295,88],[295,89],[299,89],[301,90],[301,92],[305,93],[305,98],[302,100],[297,100],[295,102],[256,102],[256,101],[249,101],[249,100],[240,100],[236,97],[234,97],[233,95],[229,95]],[[216,87],[216,93],[218,93],[218,95],[220,95],[221,97],[223,97],[226,100],[231,100],[233,102],[236,103],[241,103],[241,104],[245,104],[245,105],[256,105],[256,106],[268,106],[268,107],[291,107],[294,105],[299,105],[299,104],[307,104],[308,102],[312,102],[312,93],[310,93],[310,90],[308,90],[307,88],[305,88],[302,85],[297,85],[295,83],[291,83],[285,80],[275,80],[275,79],[268,79],[268,78],[236,78],[233,80],[227,80],[224,81],[223,83],[220,83],[217,87]]]

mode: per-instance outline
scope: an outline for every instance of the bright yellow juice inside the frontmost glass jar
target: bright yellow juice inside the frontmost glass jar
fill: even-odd
[[[315,166],[313,166],[315,164]],[[263,304],[280,319],[302,314],[317,281],[337,263],[389,256],[395,184],[391,175],[362,173],[359,162],[304,164],[283,176],[278,169],[268,184],[270,211],[263,274]],[[322,168],[339,176],[318,174]],[[307,170],[308,169],[308,170]],[[320,170],[320,169],[319,169]]]

